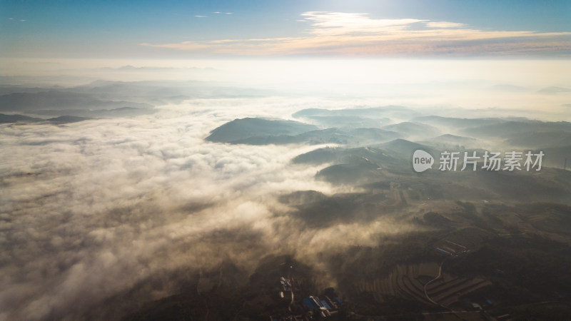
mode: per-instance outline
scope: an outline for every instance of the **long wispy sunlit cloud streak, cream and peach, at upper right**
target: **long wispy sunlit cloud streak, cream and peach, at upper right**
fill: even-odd
[[[453,21],[373,19],[368,14],[308,11],[302,36],[142,44],[207,54],[362,56],[571,54],[571,33],[473,29]]]

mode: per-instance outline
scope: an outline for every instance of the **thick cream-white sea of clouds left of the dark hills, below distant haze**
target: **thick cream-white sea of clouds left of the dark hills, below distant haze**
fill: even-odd
[[[166,275],[143,300],[171,294],[178,269],[230,260],[251,270],[268,253],[316,264],[328,246],[406,230],[386,220],[307,228],[276,195],[335,192],[313,180],[319,168],[290,164],[308,147],[203,141],[238,115],[291,108],[221,99],[132,119],[1,126],[0,320],[74,320],[150,277]],[[332,235],[343,242],[323,241]]]

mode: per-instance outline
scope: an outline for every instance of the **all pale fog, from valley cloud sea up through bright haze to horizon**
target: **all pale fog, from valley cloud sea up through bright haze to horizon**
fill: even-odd
[[[0,320],[76,319],[106,298],[157,275],[163,282],[146,299],[164,297],[176,291],[171,271],[215,267],[223,260],[251,270],[263,255],[293,253],[319,269],[316,254],[324,250],[373,245],[382,235],[413,230],[412,225],[389,218],[315,228],[283,215],[288,207],[277,199],[284,193],[318,190],[332,195],[351,190],[315,180],[323,165],[290,163],[295,156],[323,146],[245,146],[204,140],[214,128],[235,118],[292,119],[304,108],[400,105],[427,116],[571,120],[571,89],[563,86],[571,74],[565,71],[568,63],[527,61],[519,67],[525,70],[517,71],[513,61],[503,65],[479,61],[473,66],[455,62],[454,66],[470,67],[417,82],[411,77],[438,73],[438,66],[419,62],[415,66],[423,70],[408,68],[400,77],[398,67],[405,64],[400,61],[382,79],[358,81],[365,73],[383,73],[381,67],[386,66],[380,63],[366,70],[365,62],[355,68],[340,66],[339,72],[350,75],[345,79],[335,73],[335,63],[327,65],[330,69],[320,63],[306,71],[308,77],[300,67],[290,70],[283,81],[271,72],[283,71],[295,61],[258,76],[246,73],[246,65],[203,63],[193,69],[189,64],[176,77],[161,69],[166,73],[161,79],[213,82],[138,83],[147,86],[140,93],[118,89],[128,83],[86,83],[97,78],[151,81],[158,71],[150,67],[171,67],[157,66],[156,61],[123,71],[123,62],[108,69],[101,63],[89,69],[60,66],[38,71],[40,78],[33,77],[31,67],[23,76],[5,72],[0,101],[24,92],[41,101],[42,96],[34,95],[58,91],[106,102],[146,103],[151,111],[118,117],[89,114],[94,119],[59,125],[0,125]],[[497,66],[505,69],[491,69]],[[547,73],[542,66],[560,68],[555,78],[534,78]],[[230,70],[233,76],[204,76],[220,70]],[[318,82],[331,75],[336,75],[331,84]],[[71,86],[80,79],[71,76],[83,81],[77,80],[77,86],[85,86]],[[407,83],[391,83],[391,76]],[[273,81],[265,82],[268,78]],[[300,82],[294,86],[292,79]],[[56,83],[66,86],[51,87]],[[348,83],[353,86],[343,91]],[[98,85],[108,86],[107,91],[94,89]],[[176,90],[156,90],[153,95],[148,91],[169,86]],[[13,100],[6,98],[0,113],[44,118],[84,108],[59,108],[62,104],[31,108],[28,103],[18,110],[6,101]]]

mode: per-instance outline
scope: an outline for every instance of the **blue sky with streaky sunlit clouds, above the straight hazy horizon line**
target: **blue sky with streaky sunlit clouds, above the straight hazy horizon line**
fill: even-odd
[[[556,56],[571,1],[1,1],[0,56]]]

